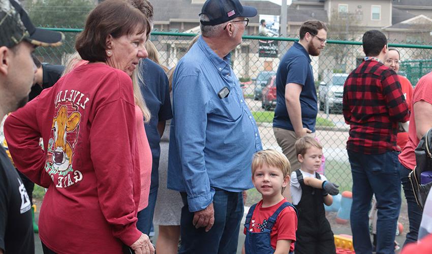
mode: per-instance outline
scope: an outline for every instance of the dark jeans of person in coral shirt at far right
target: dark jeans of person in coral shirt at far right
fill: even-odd
[[[412,170],[404,167],[404,165],[402,164],[399,164],[399,169],[400,169],[400,182],[402,182],[405,198],[407,199],[408,220],[410,221],[410,232],[407,233],[407,239],[405,240],[404,243],[405,246],[407,243],[417,241],[418,229],[420,228],[422,212],[417,205],[413,193],[413,188],[411,186],[410,179],[408,178],[408,174],[412,172]]]

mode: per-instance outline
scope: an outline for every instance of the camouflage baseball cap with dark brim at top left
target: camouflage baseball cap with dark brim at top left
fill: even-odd
[[[36,46],[59,46],[63,33],[36,28],[15,0],[0,0],[0,46],[13,47],[25,40]]]

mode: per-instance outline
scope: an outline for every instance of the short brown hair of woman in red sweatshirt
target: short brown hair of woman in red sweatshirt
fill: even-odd
[[[147,17],[124,1],[107,0],[90,12],[84,30],[77,36],[75,48],[84,60],[105,62],[107,37],[119,38],[136,31],[148,36]]]

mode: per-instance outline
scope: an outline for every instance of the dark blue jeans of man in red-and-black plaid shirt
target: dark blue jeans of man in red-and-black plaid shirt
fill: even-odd
[[[394,253],[397,217],[400,210],[398,152],[363,154],[348,151],[353,175],[351,230],[357,254],[372,253],[368,212],[372,195],[377,199],[377,254]]]

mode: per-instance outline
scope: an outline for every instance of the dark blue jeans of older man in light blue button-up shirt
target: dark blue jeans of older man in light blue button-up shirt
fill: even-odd
[[[214,225],[208,232],[192,225],[194,213],[189,211],[187,194],[180,195],[184,206],[181,208],[181,247],[178,253],[235,254],[243,217],[242,193],[216,189],[213,196]]]

